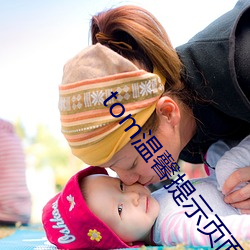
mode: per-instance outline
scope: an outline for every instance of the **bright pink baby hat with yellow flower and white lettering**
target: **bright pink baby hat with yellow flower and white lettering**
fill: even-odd
[[[93,174],[108,175],[99,167],[81,170],[45,205],[42,222],[48,240],[60,249],[131,248],[88,208],[79,181]]]

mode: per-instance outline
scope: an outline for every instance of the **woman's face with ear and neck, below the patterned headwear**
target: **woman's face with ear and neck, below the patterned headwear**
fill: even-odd
[[[156,164],[155,160],[163,159],[164,154],[166,154],[168,157],[165,156],[165,159],[168,159],[165,162],[171,160],[171,162],[176,163],[181,150],[195,133],[196,123],[192,113],[182,112],[177,102],[169,96],[163,96],[159,99],[156,104],[156,115],[158,117],[158,127],[154,135],[140,133],[118,151],[111,160],[101,165],[101,167],[114,170],[127,185],[139,182],[147,186],[171,176],[170,171],[168,177],[160,178],[159,172],[155,172],[157,171],[154,166]],[[148,141],[153,136],[162,145],[159,150],[154,150],[157,147]],[[140,142],[136,143],[138,140]],[[147,149],[141,153],[138,152],[143,148],[142,143],[151,151],[151,156],[148,154]],[[137,147],[139,147],[138,150]],[[147,161],[144,158],[147,158]],[[164,164],[162,165],[164,166]],[[153,166],[154,168],[152,168]],[[169,163],[165,166],[168,169]]]

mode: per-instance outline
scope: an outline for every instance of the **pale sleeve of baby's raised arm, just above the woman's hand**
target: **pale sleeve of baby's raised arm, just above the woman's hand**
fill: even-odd
[[[222,190],[225,181],[235,170],[247,166],[250,166],[250,135],[218,160],[215,167],[218,189]],[[246,183],[241,183],[234,190],[245,185]]]

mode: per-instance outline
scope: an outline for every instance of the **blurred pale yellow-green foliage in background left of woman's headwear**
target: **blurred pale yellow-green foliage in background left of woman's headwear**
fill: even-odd
[[[74,173],[86,167],[71,153],[66,141],[53,136],[45,125],[39,124],[33,136],[26,133],[20,119],[14,125],[24,144],[28,168],[51,168],[57,191],[62,189]]]

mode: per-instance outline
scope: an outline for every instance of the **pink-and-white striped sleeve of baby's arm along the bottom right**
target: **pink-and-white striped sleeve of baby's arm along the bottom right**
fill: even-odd
[[[187,211],[191,214],[190,211]],[[250,215],[229,215],[220,216],[220,220],[215,216],[215,214],[208,215],[208,219],[204,216],[201,217],[200,223],[197,226],[197,221],[199,219],[199,214],[195,214],[193,217],[189,218],[185,215],[184,210],[173,211],[169,213],[164,219],[161,226],[161,241],[165,246],[176,245],[184,243],[188,246],[211,246],[209,234],[203,234],[199,230],[211,233],[215,229],[216,232],[211,234],[213,245],[221,245],[227,239],[231,240],[233,243],[234,238],[239,240],[250,240]],[[214,222],[212,222],[214,221]],[[206,227],[210,222],[211,225]],[[219,226],[220,224],[224,226]],[[218,227],[216,227],[218,225]],[[204,227],[206,227],[204,229]],[[226,230],[230,231],[230,234]],[[222,236],[220,230],[225,234],[218,242],[214,243],[216,239]]]

